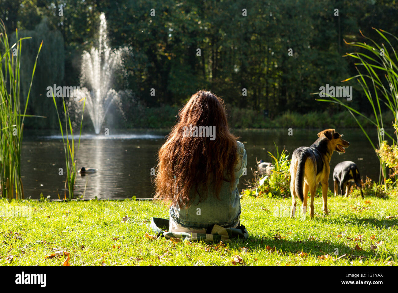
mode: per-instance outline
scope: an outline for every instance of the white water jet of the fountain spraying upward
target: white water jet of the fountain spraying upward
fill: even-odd
[[[90,52],[83,51],[79,91],[79,97],[86,98],[86,109],[96,134],[100,133],[102,123],[113,102],[121,110],[121,92],[116,92],[111,85],[115,71],[123,70],[126,74],[123,54],[127,53],[128,49],[109,47],[105,14],[101,13],[98,48],[92,47]]]

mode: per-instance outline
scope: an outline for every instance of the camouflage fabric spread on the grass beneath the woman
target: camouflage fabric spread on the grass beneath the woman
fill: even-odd
[[[162,218],[152,218],[150,226],[157,233],[158,238],[164,236],[166,238],[178,238],[183,241],[230,242],[234,238],[247,239],[249,237],[249,233],[243,225],[237,228],[224,228],[214,225],[211,234],[166,231],[169,228],[169,220]]]

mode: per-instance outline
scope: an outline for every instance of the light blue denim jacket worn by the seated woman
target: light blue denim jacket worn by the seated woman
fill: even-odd
[[[205,201],[199,203],[199,196],[188,208],[180,208],[178,204],[170,207],[170,221],[183,228],[207,229],[214,224],[224,228],[234,228],[240,219],[240,198],[238,191],[239,178],[247,165],[247,155],[244,145],[238,144],[238,163],[235,166],[235,182],[230,189],[230,182],[223,181],[219,199],[209,188]]]

